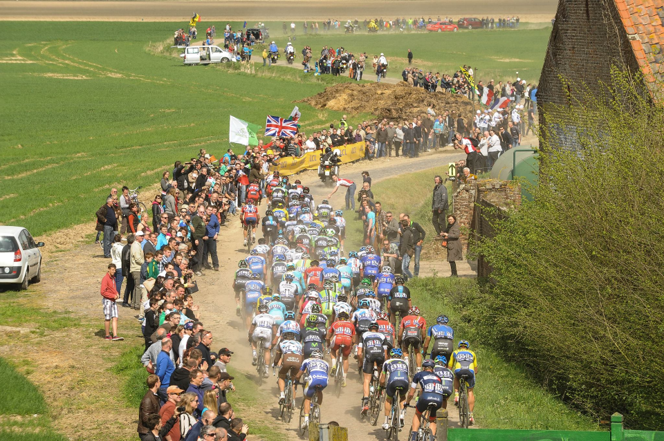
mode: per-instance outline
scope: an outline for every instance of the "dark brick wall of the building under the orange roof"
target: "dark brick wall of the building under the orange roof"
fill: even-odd
[[[582,85],[593,93],[600,91],[600,81],[610,82],[611,66],[639,71],[614,0],[560,0],[537,90],[540,124],[549,129],[553,147],[578,146],[573,127],[564,131],[561,126],[547,125],[547,111],[562,120],[565,116],[553,112],[549,104],[569,106],[569,93]]]

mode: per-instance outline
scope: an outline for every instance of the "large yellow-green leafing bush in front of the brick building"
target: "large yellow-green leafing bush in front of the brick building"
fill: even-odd
[[[664,111],[639,81],[546,109],[534,200],[479,245],[494,283],[466,318],[577,409],[661,429]]]

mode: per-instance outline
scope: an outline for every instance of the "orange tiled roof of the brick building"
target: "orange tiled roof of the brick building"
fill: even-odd
[[[645,81],[655,92],[655,82],[664,84],[664,0],[614,1]]]

